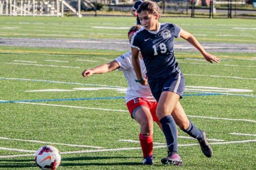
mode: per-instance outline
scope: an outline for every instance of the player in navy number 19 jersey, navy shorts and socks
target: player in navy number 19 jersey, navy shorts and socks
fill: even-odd
[[[187,127],[183,131],[198,139],[205,156],[212,156],[213,151],[206,140],[205,132],[197,129],[193,122],[187,119],[186,113],[179,105],[179,99],[185,89],[185,80],[175,61],[174,38],[182,37],[188,41],[201,52],[206,61],[219,63],[220,60],[207,53],[189,32],[175,24],[159,23],[160,11],[157,3],[147,0],[140,4],[137,13],[144,27],[134,33],[131,40],[132,62],[137,75],[136,81],[141,85],[148,82],[154,98],[158,101],[156,115],[162,125],[168,147],[168,156],[161,159],[161,162],[182,165],[178,154],[177,128],[172,114],[174,110],[180,110],[180,116],[186,119]],[[141,75],[139,51],[147,69],[147,79]]]

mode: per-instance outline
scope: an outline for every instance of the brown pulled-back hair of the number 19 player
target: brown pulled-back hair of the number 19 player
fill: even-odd
[[[149,14],[152,15],[159,15],[160,18],[160,7],[156,2],[153,2],[151,0],[144,1],[140,4],[140,7],[137,9],[137,13],[141,13],[141,11],[146,10]]]

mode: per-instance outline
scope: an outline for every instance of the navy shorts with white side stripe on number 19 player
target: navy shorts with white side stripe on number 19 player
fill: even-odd
[[[185,79],[180,70],[177,74],[170,75],[167,78],[150,80],[148,84],[156,101],[159,101],[160,95],[164,91],[175,92],[180,96],[179,99],[182,99],[185,90]]]

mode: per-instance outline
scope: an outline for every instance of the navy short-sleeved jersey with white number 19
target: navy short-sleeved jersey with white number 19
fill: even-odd
[[[140,50],[149,80],[166,78],[178,72],[173,41],[180,32],[181,27],[175,24],[159,23],[157,31],[147,31],[143,27],[134,33],[131,47]]]

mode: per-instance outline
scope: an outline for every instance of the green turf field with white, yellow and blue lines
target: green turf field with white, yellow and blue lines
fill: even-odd
[[[256,43],[256,20],[161,19],[166,21],[179,24],[199,41]],[[125,39],[134,22],[133,17],[0,17],[0,41]],[[127,111],[122,91],[127,83],[121,71],[81,76],[84,69],[124,52],[0,45],[0,170],[38,169],[34,154],[46,144],[62,153],[58,170],[256,169],[255,53],[214,53],[221,63],[213,65],[200,53],[175,53],[186,80],[180,102],[189,119],[207,132],[214,155],[205,157],[198,142],[179,129],[183,166],[174,167],[160,162],[167,152],[157,126],[154,166],[141,164],[140,127]]]

